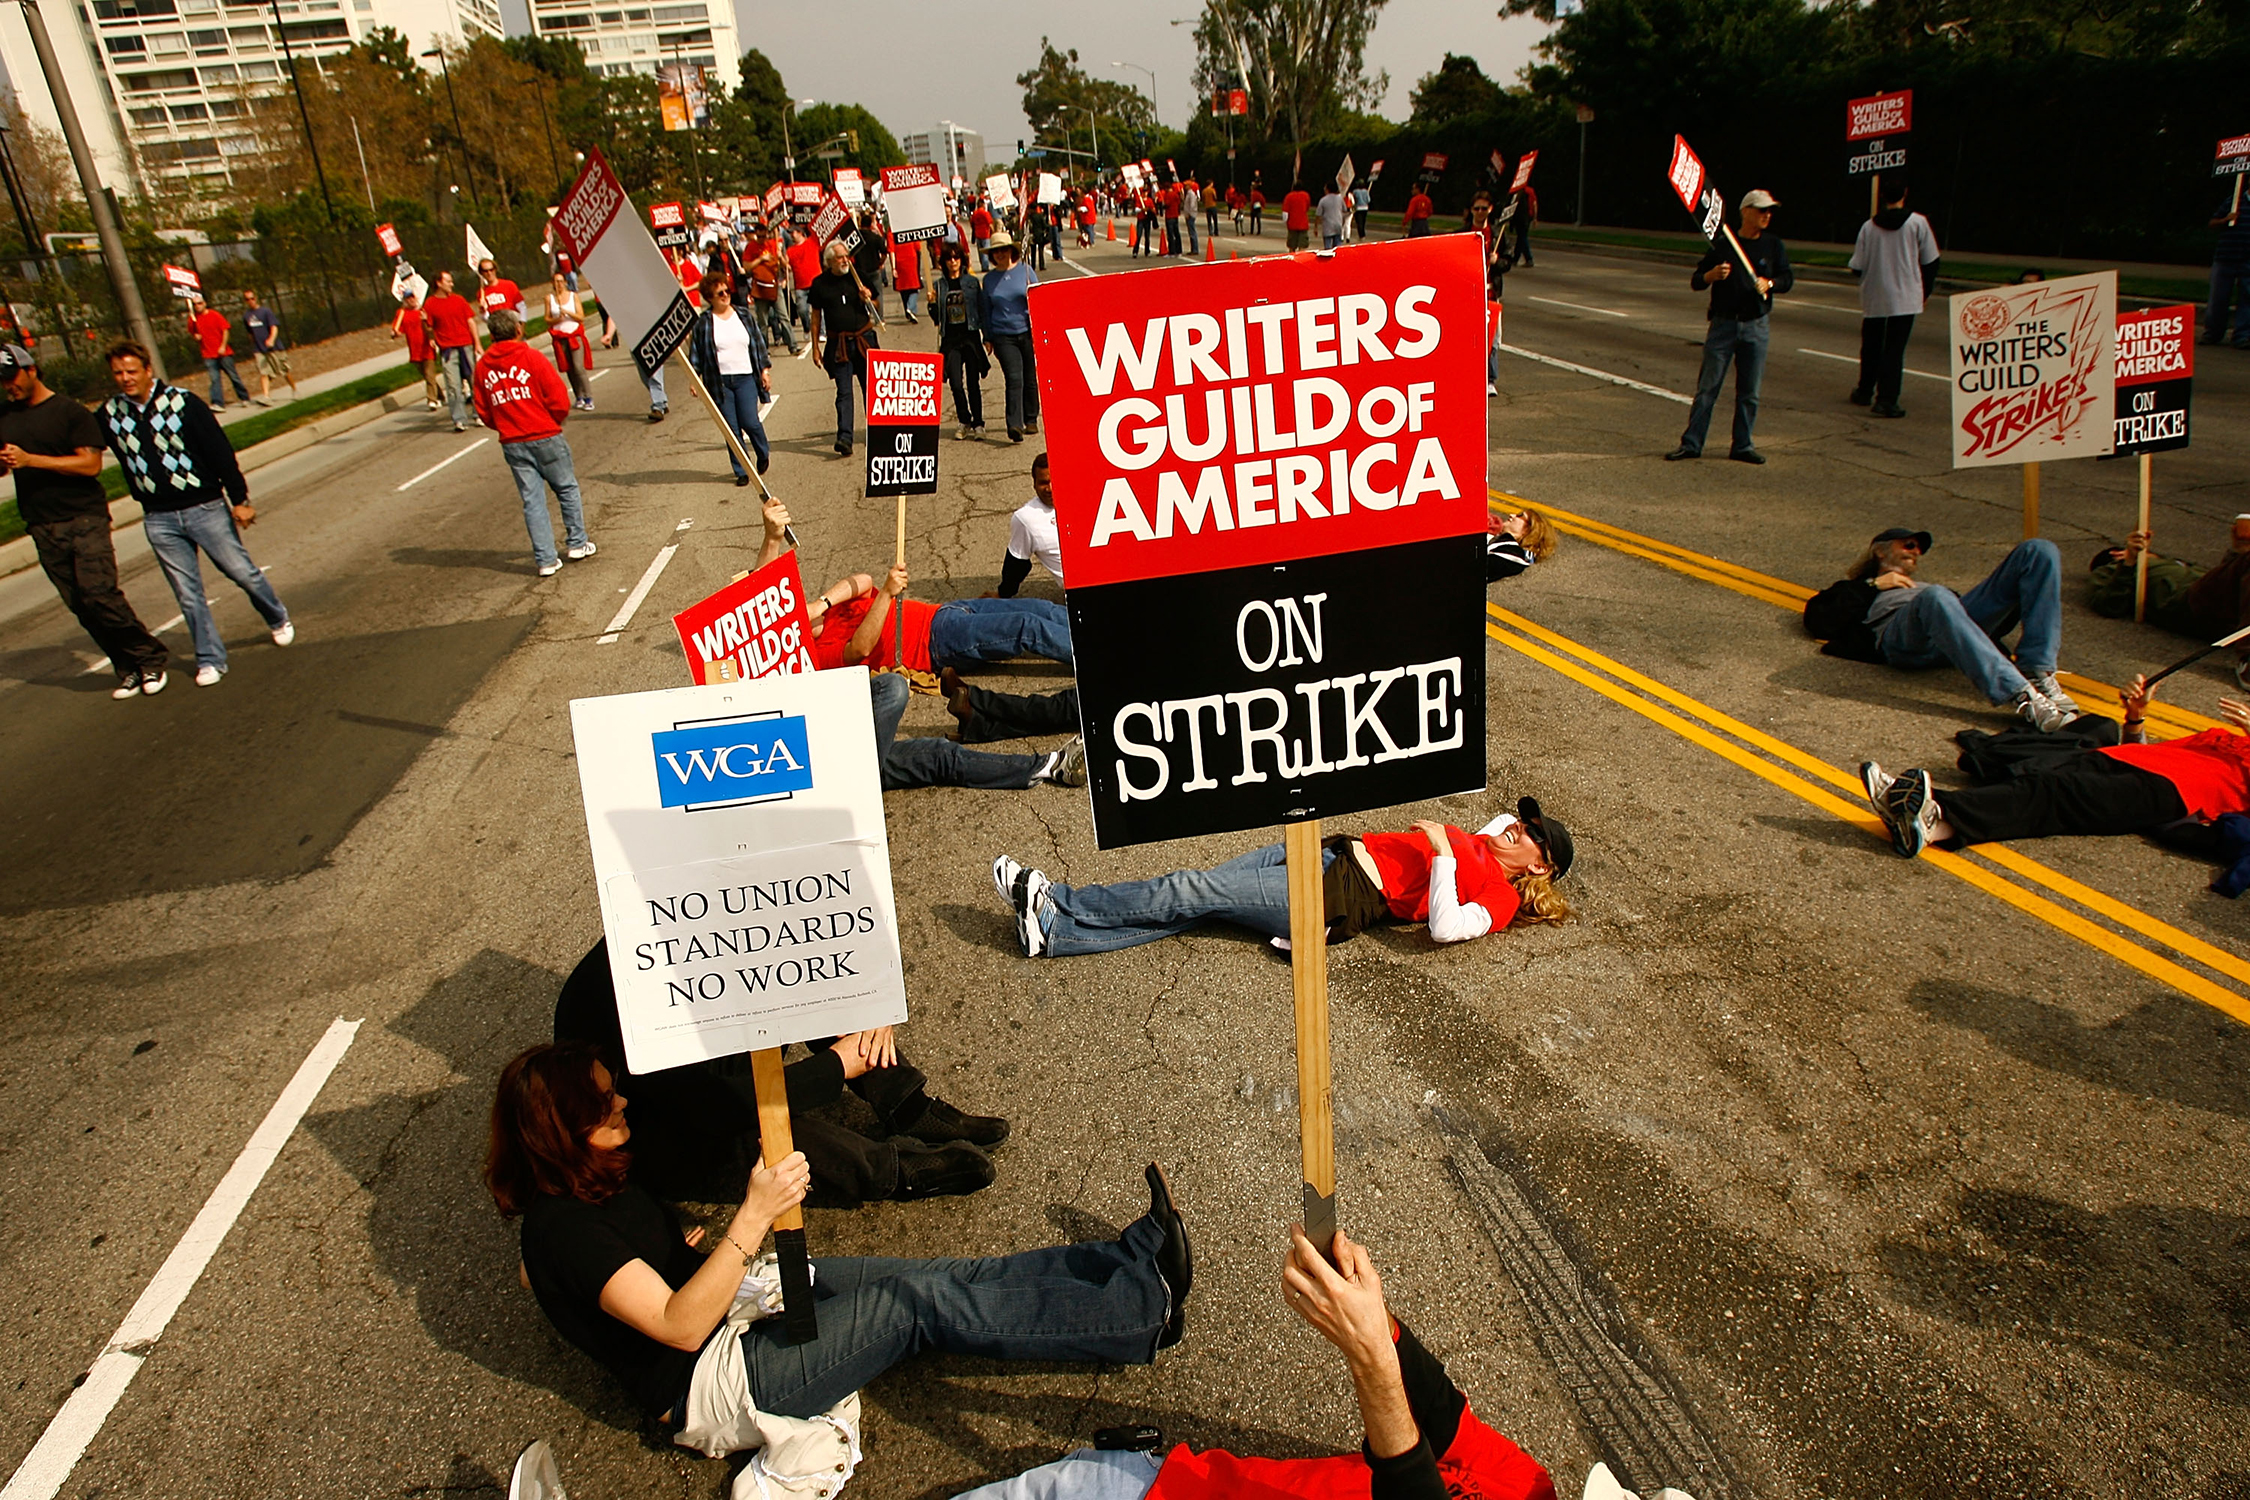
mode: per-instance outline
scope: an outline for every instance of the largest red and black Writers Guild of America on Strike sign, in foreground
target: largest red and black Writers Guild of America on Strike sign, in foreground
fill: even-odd
[[[1480,261],[1033,288],[1102,848],[1485,785]]]

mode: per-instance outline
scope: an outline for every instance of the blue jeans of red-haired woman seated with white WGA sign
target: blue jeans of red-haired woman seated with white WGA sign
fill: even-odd
[[[749,1394],[760,1412],[814,1417],[922,1349],[1148,1365],[1170,1311],[1154,1264],[1161,1244],[1143,1217],[1114,1241],[1022,1255],[819,1259],[821,1336],[790,1347],[781,1318],[745,1329]]]

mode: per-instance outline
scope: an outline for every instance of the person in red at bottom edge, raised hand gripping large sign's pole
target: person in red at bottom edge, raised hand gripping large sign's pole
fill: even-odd
[[[1080,1448],[954,1500],[1220,1500],[1368,1496],[1370,1500],[1555,1500],[1548,1471],[1485,1426],[1422,1340],[1384,1302],[1366,1246],[1339,1232],[1332,1266],[1303,1226],[1289,1228],[1280,1298],[1343,1354],[1366,1437],[1336,1457],[1238,1457],[1188,1444],[1152,1451]],[[1148,1442],[1150,1428],[1136,1433]],[[1161,1444],[1163,1435],[1154,1437]],[[1152,1446],[1154,1446],[1152,1444]]]

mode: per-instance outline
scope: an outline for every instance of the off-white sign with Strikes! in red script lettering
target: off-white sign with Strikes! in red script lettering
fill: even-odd
[[[2110,452],[2117,272],[1960,292],[1946,319],[1953,468]]]

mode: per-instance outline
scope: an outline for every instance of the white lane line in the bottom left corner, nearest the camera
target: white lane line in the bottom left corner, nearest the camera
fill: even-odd
[[[110,1334],[110,1343],[104,1345],[92,1370],[86,1372],[79,1388],[63,1401],[63,1410],[54,1415],[47,1430],[38,1435],[38,1444],[16,1466],[7,1489],[0,1489],[0,1500],[52,1500],[63,1489],[70,1471],[79,1466],[86,1448],[101,1433],[101,1424],[117,1410],[126,1385],[140,1374],[151,1345],[164,1336],[173,1313],[187,1302],[187,1293],[202,1280],[227,1230],[234,1228],[234,1221],[250,1203],[250,1194],[266,1181],[266,1172],[281,1156],[281,1147],[288,1145],[288,1138],[304,1120],[304,1111],[313,1106],[313,1100],[326,1086],[328,1075],[335,1073],[335,1064],[342,1061],[344,1048],[351,1046],[358,1032],[358,1021],[338,1016],[328,1023],[328,1030],[322,1032],[310,1055],[297,1066],[297,1075],[288,1082],[288,1088],[266,1111],[259,1129],[250,1133],[243,1154],[218,1178],[218,1187],[205,1199],[202,1212],[187,1226],[187,1235],[164,1257],[164,1266],[158,1268],[155,1280],[142,1291],[140,1302],[133,1304],[126,1320]]]

